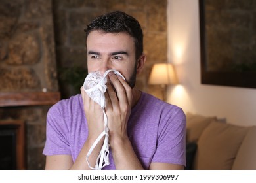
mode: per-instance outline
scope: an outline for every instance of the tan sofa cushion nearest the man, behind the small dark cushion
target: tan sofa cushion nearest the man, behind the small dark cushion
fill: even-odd
[[[205,127],[214,120],[217,120],[214,116],[186,113],[186,141],[197,142]]]

